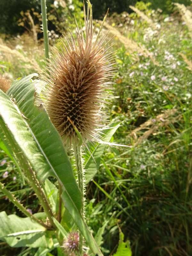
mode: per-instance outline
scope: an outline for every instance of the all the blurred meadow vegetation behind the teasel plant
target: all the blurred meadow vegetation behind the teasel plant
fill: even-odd
[[[98,10],[92,1],[93,11]],[[122,1],[123,2],[123,1]],[[177,1],[179,2],[179,1]],[[7,1],[6,1],[7,3]],[[34,38],[34,26],[26,21],[28,32],[10,36],[17,20],[23,19],[26,1],[13,20],[1,27],[0,72],[10,80],[32,72],[42,73],[44,46]],[[122,126],[113,142],[135,148],[106,147],[100,169],[87,186],[86,216],[89,227],[96,233],[106,222],[103,252],[116,251],[119,238],[118,226],[129,239],[135,256],[164,256],[192,254],[192,154],[191,154],[191,97],[192,97],[192,6],[171,5],[169,1],[135,4],[126,11],[117,9],[108,17],[105,28],[114,36],[118,72],[114,78],[114,99],[109,112],[111,121],[120,120]],[[128,3],[126,1],[126,3]],[[183,3],[183,1],[182,1]],[[128,5],[130,5],[128,4]],[[66,31],[66,19],[72,29],[72,13],[78,24],[82,21],[81,3],[73,1],[66,7],[53,8],[47,1],[50,22],[50,45],[56,45],[58,36]],[[73,5],[69,7],[69,5]],[[128,8],[128,5],[125,5]],[[108,2],[95,12],[100,18]],[[171,8],[170,8],[171,7]],[[11,10],[13,8],[10,7]],[[70,9],[71,8],[71,9]],[[123,6],[122,6],[123,8]],[[54,12],[52,11],[54,10]],[[40,11],[39,11],[40,12]],[[77,13],[80,14],[77,16]],[[1,16],[2,19],[2,16]],[[60,23],[60,19],[63,23]],[[10,23],[9,23],[10,22]],[[70,25],[71,24],[71,25]],[[14,27],[15,26],[15,27]],[[26,30],[18,27],[18,32]],[[72,31],[73,32],[73,31]],[[36,26],[36,33],[40,33]],[[6,40],[5,40],[6,38]],[[0,153],[0,179],[9,190],[17,190],[17,198],[33,213],[40,211],[31,188],[24,182],[22,173],[2,150]],[[99,185],[98,185],[99,184]],[[102,190],[103,189],[103,190]],[[0,194],[1,211],[17,213],[11,202]],[[2,255],[34,255],[29,248],[9,248],[1,243]],[[52,252],[54,255],[54,252]]]

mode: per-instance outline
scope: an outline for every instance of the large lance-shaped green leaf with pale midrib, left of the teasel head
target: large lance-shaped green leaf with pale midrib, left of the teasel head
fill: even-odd
[[[38,80],[32,80],[34,76],[37,74],[14,81],[7,92],[10,98],[1,92],[0,115],[28,158],[37,178],[44,181],[47,176],[55,176],[73,206],[80,210],[81,193],[60,135],[45,109],[34,105],[35,86],[38,84]]]

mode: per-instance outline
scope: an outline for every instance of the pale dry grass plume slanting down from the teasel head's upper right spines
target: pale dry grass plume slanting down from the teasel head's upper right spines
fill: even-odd
[[[100,22],[100,21],[98,21]],[[138,52],[140,54],[142,54],[145,58],[150,58],[150,60],[153,62],[154,65],[156,66],[160,66],[160,64],[158,63],[158,61],[156,61],[152,56],[151,53],[139,46],[136,42],[134,42],[133,40],[130,40],[129,38],[123,36],[116,28],[110,26],[107,22],[105,22],[104,26],[109,30],[109,33],[112,34],[113,36],[116,36],[119,41],[124,44],[124,47],[126,50],[131,50],[132,53],[134,52]]]

